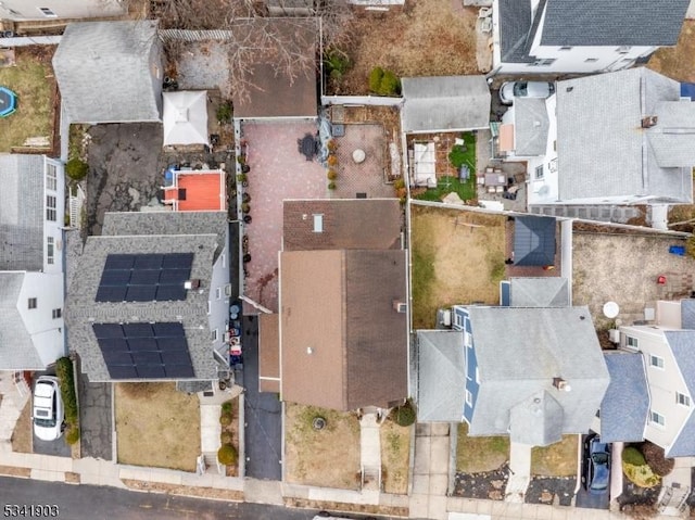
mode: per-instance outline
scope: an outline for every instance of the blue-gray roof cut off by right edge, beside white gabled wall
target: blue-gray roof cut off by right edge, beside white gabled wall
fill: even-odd
[[[678,365],[683,380],[687,385],[691,398],[695,397],[695,330],[666,330],[664,331],[673,358]],[[691,408],[691,415],[685,424],[666,452],[667,457],[692,457],[695,455],[695,415]]]

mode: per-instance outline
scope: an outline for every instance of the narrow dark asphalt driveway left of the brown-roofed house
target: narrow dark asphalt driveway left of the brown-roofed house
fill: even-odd
[[[277,394],[258,392],[258,320],[243,322],[244,446],[247,477],[282,480],[282,407]]]

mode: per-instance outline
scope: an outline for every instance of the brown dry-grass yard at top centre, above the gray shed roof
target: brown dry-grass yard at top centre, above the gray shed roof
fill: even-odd
[[[406,2],[386,13],[356,10],[345,29],[352,35],[344,50],[353,66],[332,93],[367,93],[376,66],[400,77],[477,74],[477,13],[472,8],[455,13],[452,2],[442,0]]]

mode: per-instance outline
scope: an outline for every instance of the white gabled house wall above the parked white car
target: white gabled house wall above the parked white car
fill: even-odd
[[[29,308],[29,299],[36,308]],[[53,318],[53,310],[60,317]],[[64,355],[63,276],[61,274],[27,272],[17,300],[17,310],[31,337],[41,362],[50,365]]]

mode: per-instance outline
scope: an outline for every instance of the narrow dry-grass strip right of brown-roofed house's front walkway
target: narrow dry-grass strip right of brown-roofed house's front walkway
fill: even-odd
[[[381,480],[383,491],[405,495],[408,492],[410,429],[388,420],[379,429],[381,439]]]

